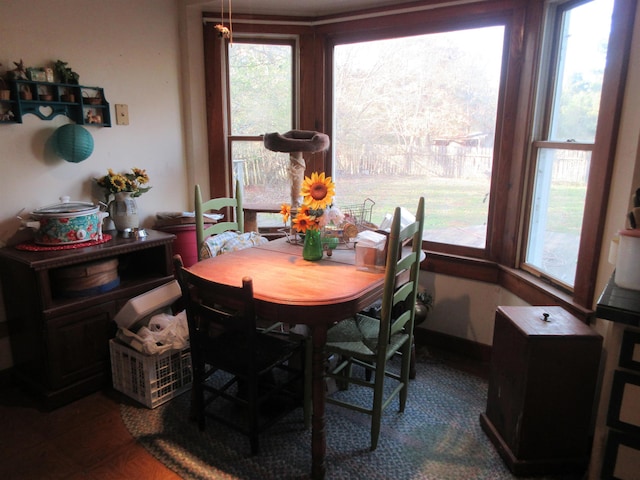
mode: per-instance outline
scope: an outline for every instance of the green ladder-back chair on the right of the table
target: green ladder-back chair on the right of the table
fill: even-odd
[[[327,403],[371,415],[371,450],[378,446],[382,412],[397,396],[399,411],[407,402],[415,302],[418,291],[424,198],[418,202],[415,222],[401,227],[400,208],[396,208],[388,237],[384,290],[380,318],[362,313],[331,327],[327,333],[326,352],[338,359],[327,371],[338,387],[350,384],[373,390],[372,402],[356,404],[339,398],[338,392],[327,396]],[[403,245],[411,242],[411,253],[403,255]],[[400,370],[390,369],[390,360],[398,357]],[[354,365],[364,367],[353,369]],[[373,372],[373,378],[367,372]],[[369,378],[367,378],[369,377]],[[385,383],[387,388],[385,388]]]

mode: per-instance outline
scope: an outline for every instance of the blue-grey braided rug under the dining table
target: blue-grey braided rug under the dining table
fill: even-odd
[[[358,390],[337,395],[363,401]],[[252,457],[247,437],[214,421],[200,432],[189,421],[189,397],[182,394],[153,410],[121,405],[131,434],[182,478],[309,478],[311,432],[304,429],[301,408],[263,433],[260,453]],[[397,400],[387,407],[375,451],[369,451],[368,415],[327,405],[327,480],[522,480],[511,475],[480,427],[486,397],[482,378],[420,355],[406,410],[398,413]],[[579,480],[582,475],[535,478]]]

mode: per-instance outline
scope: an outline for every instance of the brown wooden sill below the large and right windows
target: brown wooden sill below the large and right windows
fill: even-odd
[[[576,304],[566,292],[530,273],[488,260],[428,251],[422,269],[500,285],[531,305],[559,305],[585,323],[589,323],[594,316],[593,310]]]

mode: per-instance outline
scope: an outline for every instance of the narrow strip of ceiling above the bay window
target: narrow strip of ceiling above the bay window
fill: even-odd
[[[229,0],[222,1],[226,15]],[[231,7],[232,13],[318,17],[403,3],[407,0],[231,0]]]

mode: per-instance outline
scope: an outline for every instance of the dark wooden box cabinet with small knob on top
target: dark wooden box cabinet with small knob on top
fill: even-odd
[[[601,349],[560,307],[498,307],[480,423],[514,474],[586,467]]]

